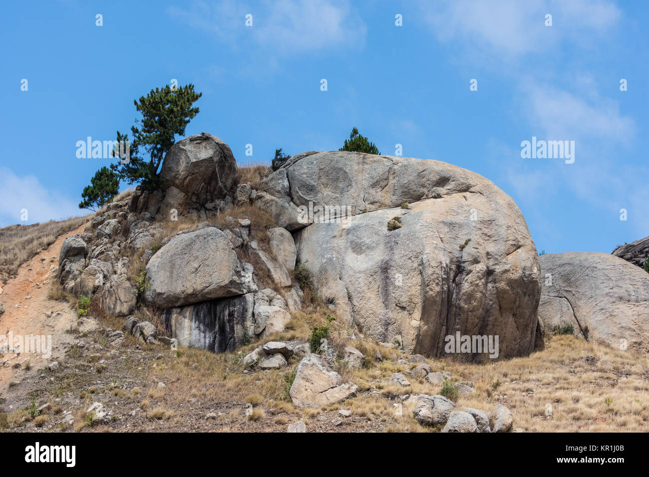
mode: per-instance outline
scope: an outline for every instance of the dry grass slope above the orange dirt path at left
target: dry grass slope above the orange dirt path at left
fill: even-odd
[[[0,276],[3,282],[16,275],[20,265],[47,249],[59,236],[84,225],[89,218],[90,215],[86,215],[58,222],[0,228]]]

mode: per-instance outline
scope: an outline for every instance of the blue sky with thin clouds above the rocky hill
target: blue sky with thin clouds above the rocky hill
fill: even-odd
[[[78,159],[76,142],[114,140],[138,117],[134,99],[177,79],[203,93],[187,135],[219,136],[239,163],[269,162],[279,147],[338,149],[356,126],[383,154],[400,143],[404,156],[495,182],[539,251],[610,252],[649,236],[646,2],[43,1],[3,10],[0,226],[79,215],[80,192],[109,160]],[[574,163],[521,158],[532,136],[574,140]]]

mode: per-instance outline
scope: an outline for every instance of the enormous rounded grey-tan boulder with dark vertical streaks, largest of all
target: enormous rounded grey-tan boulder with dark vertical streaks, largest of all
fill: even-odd
[[[337,315],[426,356],[447,354],[458,332],[498,336],[498,358],[532,352],[539,260],[519,208],[492,182],[434,160],[346,152],[291,159],[266,190],[284,177],[291,203],[369,211],[295,232],[298,260]],[[400,228],[388,230],[394,217]]]

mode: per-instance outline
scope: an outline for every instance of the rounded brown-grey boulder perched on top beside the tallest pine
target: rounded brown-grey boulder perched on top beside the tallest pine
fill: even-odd
[[[237,163],[230,147],[201,132],[175,143],[162,162],[165,198],[160,212],[204,216],[236,191]],[[231,201],[231,199],[230,199]]]

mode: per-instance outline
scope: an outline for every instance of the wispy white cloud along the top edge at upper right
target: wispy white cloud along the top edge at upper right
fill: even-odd
[[[585,32],[604,34],[620,18],[607,0],[422,1],[421,13],[442,42],[459,40],[471,51],[504,58],[546,51],[565,38],[583,42]],[[552,27],[545,26],[546,14]]]

